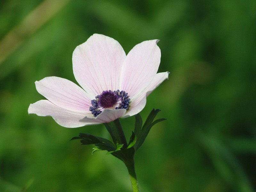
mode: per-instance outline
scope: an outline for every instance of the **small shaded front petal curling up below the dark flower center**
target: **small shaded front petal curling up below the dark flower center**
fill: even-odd
[[[125,112],[126,112],[126,109],[114,109],[114,110],[105,109],[97,117],[92,117],[92,118],[84,117],[84,119],[80,121],[87,122],[87,123],[109,123],[123,116]]]

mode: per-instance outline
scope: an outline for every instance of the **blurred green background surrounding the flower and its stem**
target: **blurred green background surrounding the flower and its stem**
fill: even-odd
[[[141,192],[256,191],[255,0],[1,0],[0,191],[131,191],[124,164],[80,132],[108,137],[103,125],[63,128],[28,116],[44,99],[34,82],[73,82],[72,52],[93,33],[128,53],[160,39],[159,72],[147,99],[162,111],[135,156]],[[134,117],[121,119],[127,139]]]

